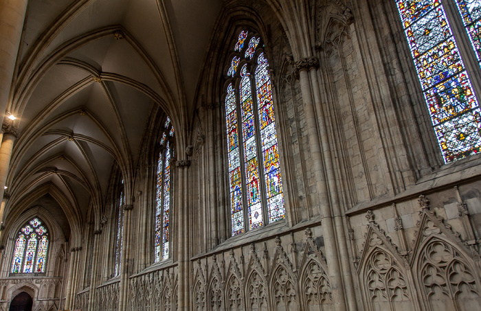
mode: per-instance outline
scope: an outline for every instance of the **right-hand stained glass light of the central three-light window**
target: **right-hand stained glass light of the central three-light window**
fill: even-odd
[[[276,124],[272,104],[271,78],[267,70],[268,63],[264,54],[260,54],[256,69],[256,91],[262,141],[262,158],[264,160],[265,191],[269,222],[284,219],[285,207],[282,194]]]

